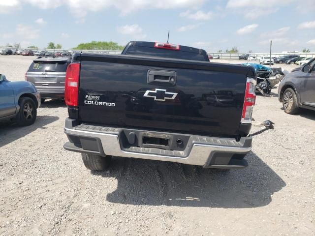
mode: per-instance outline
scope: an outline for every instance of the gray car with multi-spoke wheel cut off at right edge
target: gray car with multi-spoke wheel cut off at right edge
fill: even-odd
[[[278,94],[285,113],[296,114],[299,108],[315,111],[315,59],[284,76]]]

